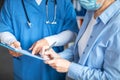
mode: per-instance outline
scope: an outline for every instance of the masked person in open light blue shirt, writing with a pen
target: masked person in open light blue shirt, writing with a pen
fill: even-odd
[[[74,80],[120,80],[120,0],[79,0],[88,12],[75,45],[43,53],[58,72]]]

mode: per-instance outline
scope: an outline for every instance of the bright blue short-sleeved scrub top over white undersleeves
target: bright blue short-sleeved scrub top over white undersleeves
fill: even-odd
[[[57,24],[46,24],[46,7],[42,0],[37,5],[35,0],[24,0],[28,17],[32,26],[27,25],[27,19],[21,0],[5,0],[0,13],[0,32],[9,31],[21,42],[23,49],[28,50],[39,39],[58,34],[64,30],[78,31],[76,14],[70,0],[57,0]],[[53,21],[54,2],[48,2],[49,20]],[[61,52],[63,46],[55,47],[56,52]],[[21,56],[14,58],[15,80],[64,80],[65,74],[56,72],[43,61]]]

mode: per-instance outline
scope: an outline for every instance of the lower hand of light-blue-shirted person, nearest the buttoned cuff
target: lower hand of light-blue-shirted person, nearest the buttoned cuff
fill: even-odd
[[[47,60],[45,63],[49,64],[52,68],[56,69],[57,72],[61,73],[68,72],[69,66],[71,64],[71,62],[62,58]]]

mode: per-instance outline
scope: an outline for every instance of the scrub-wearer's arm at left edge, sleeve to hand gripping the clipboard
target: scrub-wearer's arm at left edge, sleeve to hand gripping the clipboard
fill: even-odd
[[[8,44],[15,48],[21,48],[20,43],[16,40],[15,36],[12,34],[12,5],[10,5],[9,0],[4,1],[4,5],[0,11],[0,41],[2,43]],[[12,56],[18,57],[20,54],[10,51]]]

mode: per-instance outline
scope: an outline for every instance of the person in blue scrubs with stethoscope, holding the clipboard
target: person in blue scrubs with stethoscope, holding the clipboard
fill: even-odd
[[[0,12],[1,42],[32,50],[33,54],[54,42],[54,50],[63,51],[63,45],[74,39],[77,31],[70,0],[5,0]],[[65,74],[56,72],[41,60],[13,51],[10,54],[14,56],[14,80],[65,79]]]

